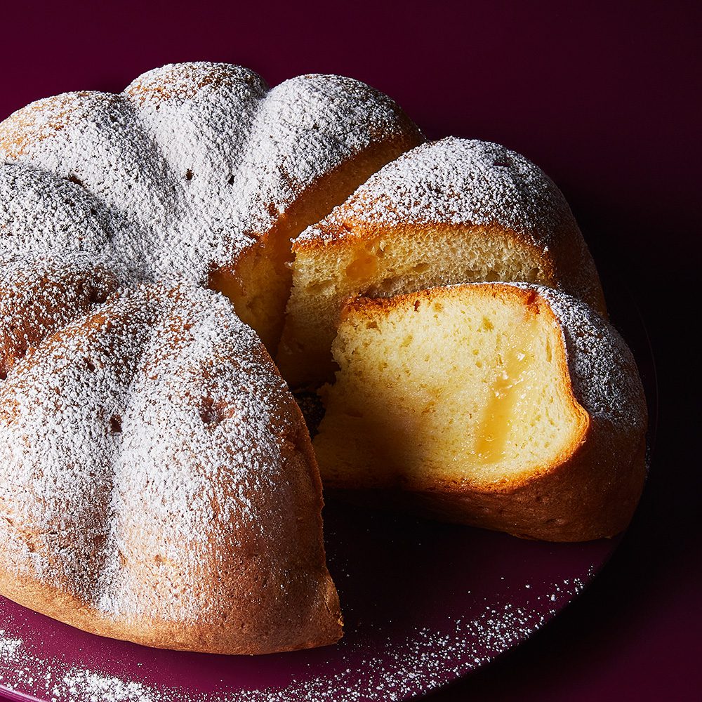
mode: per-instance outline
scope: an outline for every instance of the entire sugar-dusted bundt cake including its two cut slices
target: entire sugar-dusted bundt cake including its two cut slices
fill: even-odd
[[[475,281],[506,282],[438,287]],[[157,647],[338,640],[283,380],[336,368],[330,489],[614,534],[645,406],[606,317],[536,166],[358,81],[199,62],[34,102],[0,123],[0,594]]]

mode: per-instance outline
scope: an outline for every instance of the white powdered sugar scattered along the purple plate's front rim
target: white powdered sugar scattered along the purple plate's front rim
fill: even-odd
[[[581,592],[594,575],[536,588],[528,603],[486,602],[472,618],[446,620],[441,628],[418,626],[402,640],[373,649],[356,637],[333,673],[312,674],[286,687],[229,689],[189,694],[178,688],[147,684],[46,660],[31,645],[0,630],[0,682],[11,689],[32,690],[50,702],[361,702],[399,701],[441,687],[470,673],[534,633]],[[524,585],[530,590],[530,583]],[[7,626],[7,624],[4,624]],[[344,644],[342,644],[344,645]],[[360,654],[360,658],[359,658]],[[351,660],[356,661],[351,663]],[[360,661],[360,662],[359,662]],[[353,666],[353,667],[351,667]]]

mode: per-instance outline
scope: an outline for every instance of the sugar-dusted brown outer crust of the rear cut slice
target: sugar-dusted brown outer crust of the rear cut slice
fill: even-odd
[[[390,238],[392,227],[400,227],[412,246],[411,227],[431,225],[454,225],[458,230],[450,236],[457,237],[463,227],[475,227],[485,246],[496,246],[506,258],[523,251],[535,267],[552,268],[553,284],[604,310],[595,263],[560,190],[522,155],[475,139],[446,137],[405,152],[307,227],[293,250],[363,237],[374,227],[388,227]],[[423,237],[416,241],[423,246]]]

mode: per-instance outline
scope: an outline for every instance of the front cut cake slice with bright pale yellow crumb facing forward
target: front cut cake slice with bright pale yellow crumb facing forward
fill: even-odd
[[[343,310],[325,489],[552,541],[612,536],[644,482],[634,359],[581,300],[478,283]]]

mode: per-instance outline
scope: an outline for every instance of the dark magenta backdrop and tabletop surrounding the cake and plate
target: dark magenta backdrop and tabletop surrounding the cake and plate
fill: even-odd
[[[362,79],[430,137],[497,140],[562,187],[597,262],[621,274],[656,352],[654,465],[633,527],[532,640],[432,699],[698,700],[702,5],[379,1],[246,6],[15,4],[2,11],[0,119],[157,65],[223,60],[270,84]],[[25,9],[25,7],[27,9]]]

